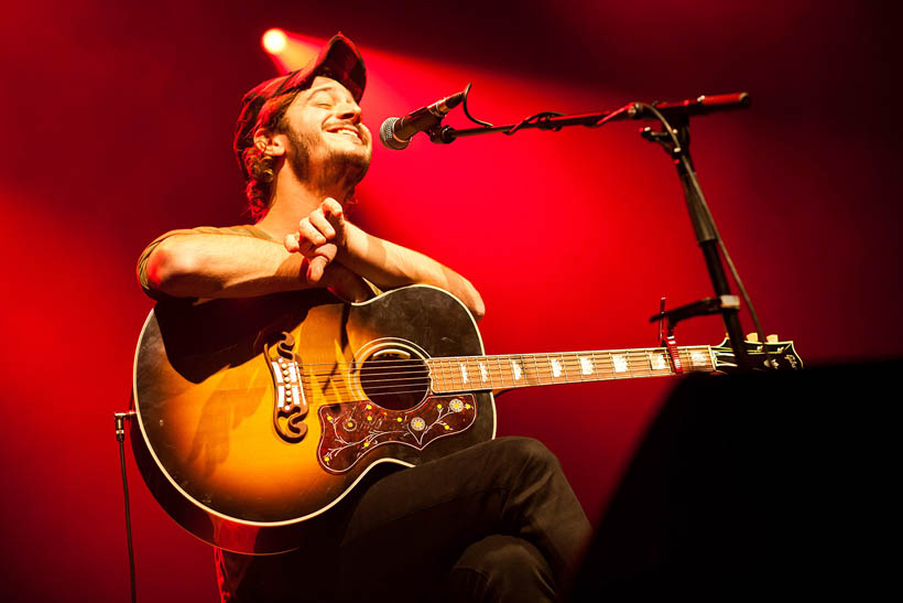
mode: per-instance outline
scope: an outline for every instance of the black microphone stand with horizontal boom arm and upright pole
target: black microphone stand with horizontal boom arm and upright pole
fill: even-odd
[[[679,103],[652,103],[649,105],[631,103],[614,111],[577,116],[542,112],[520,123],[509,126],[487,125],[482,128],[456,130],[450,126],[439,123],[436,128],[427,131],[427,133],[433,142],[448,144],[458,138],[496,132],[510,136],[518,130],[526,129],[558,131],[562,128],[570,126],[598,128],[609,121],[620,121],[623,119],[654,119],[661,122],[661,130],[655,131],[646,127],[643,128],[640,133],[645,140],[661,144],[674,161],[674,165],[677,169],[677,176],[681,179],[681,185],[684,190],[684,200],[686,202],[687,212],[689,213],[690,223],[693,224],[693,230],[696,234],[696,240],[703,251],[716,299],[701,300],[670,311],[663,310],[661,313],[652,316],[650,321],[667,319],[668,331],[671,331],[673,326],[683,319],[720,313],[725,321],[730,345],[733,348],[737,366],[741,370],[748,370],[751,368],[751,365],[747,348],[743,346],[743,331],[738,317],[740,309],[739,299],[730,292],[727,273],[721,261],[721,254],[718,251],[718,248],[721,246],[718,229],[715,227],[715,219],[711,217],[711,213],[703,195],[703,189],[696,179],[693,158],[689,154],[689,118],[697,115],[742,109],[749,107],[749,105],[750,97],[747,93],[736,93],[700,96],[696,99]],[[751,304],[750,310],[752,311]],[[761,333],[760,341],[764,342]]]

